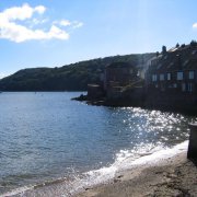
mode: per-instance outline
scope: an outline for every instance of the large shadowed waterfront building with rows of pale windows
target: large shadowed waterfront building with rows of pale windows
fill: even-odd
[[[152,58],[146,85],[152,105],[196,106],[197,46],[174,47]]]

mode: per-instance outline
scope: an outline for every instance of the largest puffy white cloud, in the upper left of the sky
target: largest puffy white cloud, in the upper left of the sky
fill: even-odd
[[[34,13],[44,14],[46,8],[38,5],[35,8],[30,7],[27,3],[22,7],[13,7],[0,12],[0,38],[5,38],[15,43],[22,43],[31,39],[68,39],[69,34],[53,24],[48,31],[33,30],[24,24],[20,24],[20,21],[32,20],[34,24],[42,24],[45,20],[38,20],[33,18]],[[68,26],[70,22],[61,20],[59,25]]]

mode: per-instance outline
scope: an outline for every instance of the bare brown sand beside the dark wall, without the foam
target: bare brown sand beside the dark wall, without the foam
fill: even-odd
[[[85,188],[77,197],[197,196],[197,169],[186,151],[152,165],[118,172],[109,184]]]

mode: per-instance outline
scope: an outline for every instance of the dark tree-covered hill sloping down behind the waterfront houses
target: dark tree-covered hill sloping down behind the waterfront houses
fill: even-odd
[[[0,80],[0,91],[85,91],[89,83],[99,83],[104,68],[124,61],[143,65],[154,54],[126,55],[81,61],[60,68],[23,69]]]

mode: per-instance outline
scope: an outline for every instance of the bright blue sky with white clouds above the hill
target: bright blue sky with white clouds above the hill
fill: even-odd
[[[0,0],[0,78],[197,39],[196,0]]]

